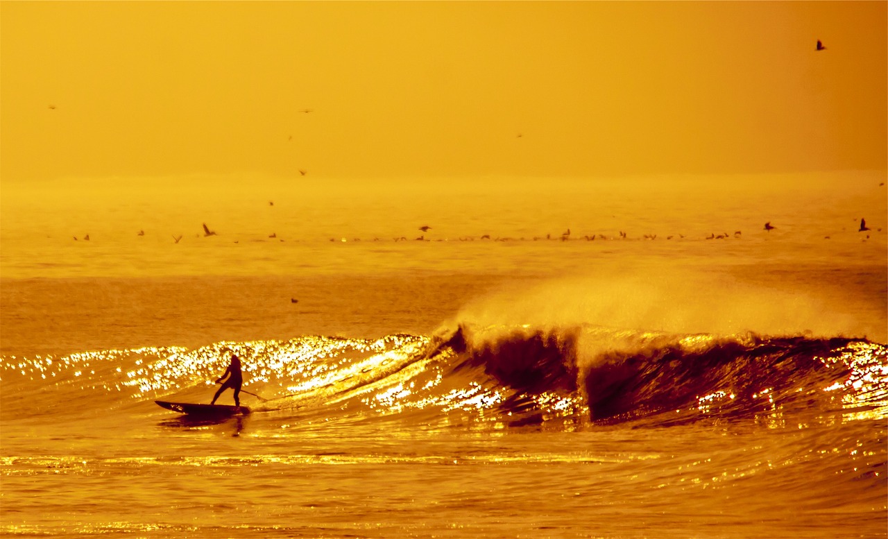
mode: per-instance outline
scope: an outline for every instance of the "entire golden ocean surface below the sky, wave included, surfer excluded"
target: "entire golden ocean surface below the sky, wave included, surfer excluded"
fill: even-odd
[[[4,180],[0,535],[884,537],[886,181]]]

